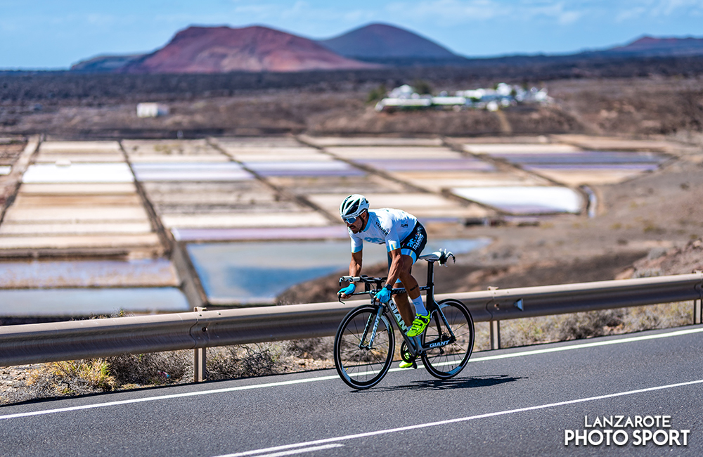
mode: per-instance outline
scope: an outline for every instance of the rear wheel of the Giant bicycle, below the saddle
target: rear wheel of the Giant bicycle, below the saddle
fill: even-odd
[[[439,308],[446,317],[456,340],[449,345],[429,349],[422,354],[423,364],[432,376],[449,379],[466,366],[474,349],[474,321],[469,310],[458,300],[442,300]],[[423,347],[449,341],[451,334],[437,310],[432,311],[430,324],[422,335]]]

